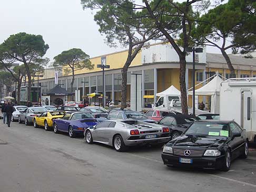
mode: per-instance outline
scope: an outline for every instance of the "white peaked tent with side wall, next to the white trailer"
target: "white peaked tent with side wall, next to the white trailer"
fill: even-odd
[[[221,77],[222,76],[220,76],[219,73],[216,73],[214,75],[214,78],[209,83],[195,90],[195,95],[211,96],[211,113],[220,113],[220,85],[223,82]],[[190,88],[189,90],[191,91],[189,91],[188,94],[193,95],[193,87]]]

